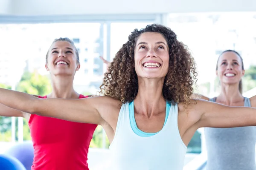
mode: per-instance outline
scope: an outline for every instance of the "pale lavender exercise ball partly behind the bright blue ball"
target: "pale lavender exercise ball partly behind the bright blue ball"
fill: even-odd
[[[16,143],[5,152],[6,155],[18,159],[26,170],[31,170],[34,160],[34,148],[32,142]]]

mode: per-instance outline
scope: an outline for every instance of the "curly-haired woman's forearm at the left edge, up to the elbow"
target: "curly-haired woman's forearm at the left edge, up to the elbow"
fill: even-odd
[[[26,113],[33,113],[33,101],[35,99],[38,98],[30,94],[0,88],[0,103],[9,108]]]

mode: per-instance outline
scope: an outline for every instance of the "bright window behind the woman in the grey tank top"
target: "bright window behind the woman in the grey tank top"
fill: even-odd
[[[215,68],[222,51],[231,49],[243,54],[245,69],[256,64],[255,16],[255,12],[169,14],[168,26],[195,58],[199,93],[209,97],[218,95]],[[256,79],[253,81],[256,83]],[[245,84],[248,83],[245,81]],[[188,152],[198,153],[200,148],[201,134],[197,132],[188,145]]]

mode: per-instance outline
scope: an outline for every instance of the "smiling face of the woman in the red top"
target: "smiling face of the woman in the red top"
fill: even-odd
[[[45,67],[53,75],[74,75],[80,68],[76,49],[70,42],[56,41],[52,43],[47,55]]]

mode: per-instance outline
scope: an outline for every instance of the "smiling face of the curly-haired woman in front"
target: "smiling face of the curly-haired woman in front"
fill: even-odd
[[[134,62],[138,77],[165,77],[169,70],[169,47],[163,35],[141,34],[134,48]]]

